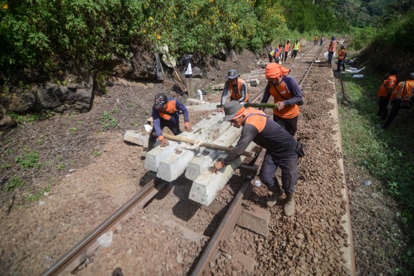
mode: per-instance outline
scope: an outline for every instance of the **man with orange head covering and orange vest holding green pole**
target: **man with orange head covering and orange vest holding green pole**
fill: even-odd
[[[268,84],[264,88],[262,103],[267,103],[273,96],[276,107],[273,109],[273,121],[282,126],[290,135],[294,136],[297,130],[298,105],[303,104],[302,91],[299,83],[288,77],[289,69],[277,63],[270,63],[264,72]]]

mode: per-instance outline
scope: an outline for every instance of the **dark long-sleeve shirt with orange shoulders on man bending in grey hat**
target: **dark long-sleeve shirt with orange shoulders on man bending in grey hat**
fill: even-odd
[[[242,134],[233,152],[223,159],[225,165],[233,163],[242,155],[251,141],[266,148],[275,159],[297,158],[295,152],[297,141],[282,126],[264,115],[264,112],[254,108],[246,108],[248,117],[243,124]]]

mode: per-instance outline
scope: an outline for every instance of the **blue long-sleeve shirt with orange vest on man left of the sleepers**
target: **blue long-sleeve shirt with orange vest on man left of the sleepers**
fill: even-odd
[[[159,139],[162,137],[160,121],[166,120],[170,121],[172,124],[179,124],[179,110],[181,110],[184,115],[184,122],[190,121],[188,109],[175,98],[168,98],[167,109],[164,112],[159,112],[152,107],[152,120],[154,121],[155,133],[157,133]]]

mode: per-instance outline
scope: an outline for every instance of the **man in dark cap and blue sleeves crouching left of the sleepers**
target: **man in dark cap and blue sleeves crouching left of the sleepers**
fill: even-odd
[[[174,135],[179,135],[179,112],[184,115],[184,128],[186,131],[193,131],[190,126],[188,109],[184,104],[175,98],[167,98],[164,93],[155,96],[154,106],[152,107],[152,120],[154,127],[148,139],[148,151],[155,146],[157,138],[161,141],[161,147],[168,146],[168,140],[162,135],[164,127],[169,128]]]

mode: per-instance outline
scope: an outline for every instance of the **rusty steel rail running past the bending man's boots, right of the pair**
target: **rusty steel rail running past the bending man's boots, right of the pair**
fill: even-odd
[[[256,166],[261,166],[262,161],[264,159],[264,153],[266,150],[262,149],[259,156],[255,161]],[[253,165],[254,166],[254,165]],[[208,246],[204,250],[204,253],[201,255],[197,266],[193,269],[191,273],[192,276],[200,276],[203,275],[206,266],[210,261],[215,257],[219,243],[230,237],[233,228],[239,219],[240,214],[242,213],[242,201],[248,199],[251,191],[253,190],[253,184],[251,183],[253,180],[245,180],[242,184],[242,188],[240,188],[239,192],[233,199],[230,208],[228,208],[226,215],[221,220],[221,223],[217,230],[215,231],[213,237],[210,239]]]

